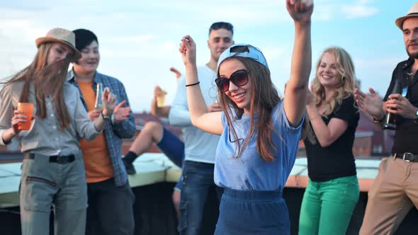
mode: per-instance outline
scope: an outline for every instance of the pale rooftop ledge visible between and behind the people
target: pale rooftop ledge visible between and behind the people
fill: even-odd
[[[177,182],[181,168],[175,166],[164,154],[146,153],[134,161],[135,176],[128,176],[130,186],[137,187],[160,182]],[[356,159],[357,176],[362,192],[368,192],[378,174],[380,159]],[[21,163],[0,164],[0,208],[19,204],[18,187],[21,180]],[[306,188],[307,160],[296,159],[286,187]]]

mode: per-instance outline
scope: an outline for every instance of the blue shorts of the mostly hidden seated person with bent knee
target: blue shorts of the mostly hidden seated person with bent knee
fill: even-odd
[[[174,163],[182,167],[184,161],[184,143],[173,133],[162,127],[162,138],[157,143],[157,147]],[[181,176],[174,187],[181,190]]]

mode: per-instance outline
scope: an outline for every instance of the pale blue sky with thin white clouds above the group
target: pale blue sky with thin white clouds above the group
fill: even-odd
[[[205,64],[210,56],[206,45],[210,24],[228,21],[235,26],[235,42],[250,43],[264,52],[274,84],[283,91],[293,47],[293,23],[285,2],[2,1],[0,78],[26,67],[36,52],[35,39],[50,28],[87,28],[98,35],[101,50],[98,71],[123,81],[132,109],[142,112],[149,110],[157,84],[168,92],[167,103],[172,101],[176,79],[169,67],[184,71],[178,52],[181,37],[189,34],[196,40],[198,64]],[[325,47],[343,47],[354,59],[362,89],[372,86],[384,95],[392,70],[407,58],[402,32],[394,22],[413,3],[409,0],[315,1],[314,67]]]

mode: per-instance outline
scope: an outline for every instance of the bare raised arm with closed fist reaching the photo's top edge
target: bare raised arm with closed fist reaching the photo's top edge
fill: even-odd
[[[286,86],[284,109],[290,125],[300,124],[305,113],[307,83],[312,66],[310,42],[310,16],[312,0],[286,0],[286,8],[295,22],[295,45],[293,46],[290,79]]]

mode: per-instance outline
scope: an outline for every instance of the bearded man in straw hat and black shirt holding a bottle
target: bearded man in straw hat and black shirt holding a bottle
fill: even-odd
[[[368,192],[363,235],[394,234],[409,210],[418,206],[418,2],[395,24],[403,32],[409,59],[397,64],[383,101],[373,88],[369,95],[356,91],[358,106],[376,123],[383,122],[385,113],[397,115],[392,157],[380,163]],[[402,93],[391,94],[397,80]]]

